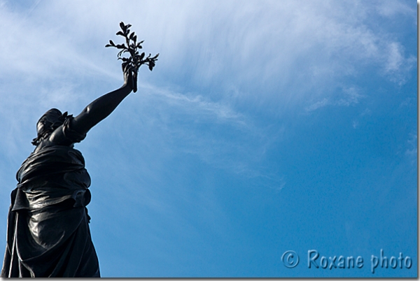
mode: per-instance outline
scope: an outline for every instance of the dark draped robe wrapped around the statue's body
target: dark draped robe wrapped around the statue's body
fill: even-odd
[[[43,147],[16,177],[1,277],[100,277],[82,154],[71,146]]]

